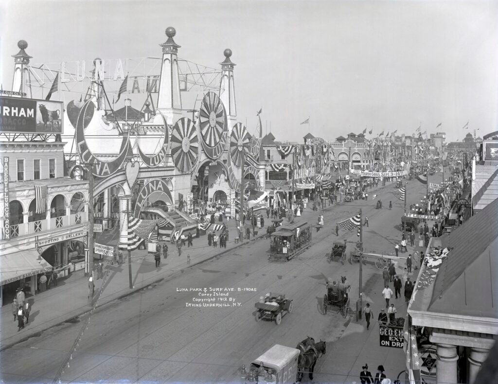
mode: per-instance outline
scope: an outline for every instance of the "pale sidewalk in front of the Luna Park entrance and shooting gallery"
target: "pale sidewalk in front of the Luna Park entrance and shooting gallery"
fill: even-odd
[[[267,219],[265,218],[265,223]],[[163,258],[161,253],[161,264],[155,267],[154,255],[148,254],[146,250],[136,250],[131,252],[131,277],[133,288],[129,288],[128,260],[124,252],[124,264],[111,265],[112,257],[104,259],[104,274],[108,271],[109,276],[105,289],[99,300],[99,307],[112,302],[118,298],[129,295],[151,284],[157,283],[165,278],[170,278],[184,269],[202,263],[215,256],[238,248],[248,241],[235,244],[237,237],[237,221],[224,221],[229,229],[229,241],[227,248],[208,247],[207,236],[193,239],[193,247],[183,247],[181,256],[174,244],[168,244],[168,257]],[[216,223],[221,224],[221,223]],[[258,236],[250,241],[255,241],[266,233],[259,231]],[[190,264],[187,257],[190,256]],[[98,263],[98,258],[95,262]],[[94,273],[97,278],[97,273]],[[97,296],[102,285],[102,279],[95,280],[95,293]],[[88,277],[84,276],[84,271],[79,270],[71,273],[70,276],[59,278],[58,285],[45,292],[28,297],[26,300],[32,305],[29,316],[29,323],[24,329],[17,331],[17,321],[14,322],[11,305],[6,304],[0,309],[0,350],[7,349],[14,344],[36,336],[42,331],[54,327],[55,325],[68,322],[75,317],[82,316],[91,309],[88,299]]]

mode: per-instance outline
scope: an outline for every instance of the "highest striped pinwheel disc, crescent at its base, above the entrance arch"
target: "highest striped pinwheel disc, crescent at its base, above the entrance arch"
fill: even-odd
[[[214,92],[208,92],[202,99],[199,124],[206,155],[213,160],[217,159],[227,143],[228,122],[225,107]]]

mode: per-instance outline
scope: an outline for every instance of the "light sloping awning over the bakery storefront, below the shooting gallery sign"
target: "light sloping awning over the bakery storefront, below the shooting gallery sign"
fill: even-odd
[[[52,266],[36,250],[18,250],[0,256],[1,285],[49,270],[52,270]]]

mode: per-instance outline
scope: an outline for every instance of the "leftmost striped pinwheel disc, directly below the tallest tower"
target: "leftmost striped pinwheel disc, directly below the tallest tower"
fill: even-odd
[[[192,120],[181,118],[171,130],[171,156],[176,168],[189,172],[199,154],[199,138]]]

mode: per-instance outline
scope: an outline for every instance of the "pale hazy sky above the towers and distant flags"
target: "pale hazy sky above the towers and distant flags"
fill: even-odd
[[[221,68],[232,49],[237,119],[250,133],[259,109],[263,134],[282,141],[365,128],[372,137],[421,126],[445,131],[447,141],[498,130],[498,1],[4,0],[0,7],[4,90],[20,39],[31,63],[88,65],[95,57],[159,57],[173,26],[183,59]]]

